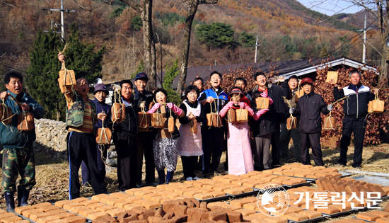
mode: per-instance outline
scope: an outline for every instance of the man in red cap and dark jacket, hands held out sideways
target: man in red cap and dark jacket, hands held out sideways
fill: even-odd
[[[289,108],[289,113],[300,116],[301,131],[301,161],[310,165],[308,144],[312,148],[313,160],[316,166],[323,166],[320,137],[322,135],[322,120],[320,112],[327,115],[332,110],[332,104],[326,105],[320,94],[313,92],[313,81],[309,77],[301,80],[304,96],[298,98],[296,108]]]

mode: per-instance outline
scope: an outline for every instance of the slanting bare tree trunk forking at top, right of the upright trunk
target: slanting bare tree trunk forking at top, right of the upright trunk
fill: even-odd
[[[184,45],[182,49],[182,63],[180,68],[180,80],[178,81],[177,91],[184,91],[184,83],[187,79],[187,63],[189,60],[190,50],[190,33],[192,31],[192,23],[194,15],[197,12],[199,4],[217,4],[218,0],[182,0],[187,6],[187,19],[184,28]]]

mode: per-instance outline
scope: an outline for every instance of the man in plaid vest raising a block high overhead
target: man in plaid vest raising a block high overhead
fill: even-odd
[[[65,57],[58,54],[64,67]],[[77,91],[66,88],[66,142],[69,151],[69,200],[80,197],[79,168],[84,161],[91,173],[91,183],[96,195],[106,193],[104,178],[98,171],[96,138],[94,127],[97,119],[105,120],[104,113],[96,113],[96,105],[88,98],[89,83],[84,78],[77,79]],[[97,114],[97,115],[96,115]]]

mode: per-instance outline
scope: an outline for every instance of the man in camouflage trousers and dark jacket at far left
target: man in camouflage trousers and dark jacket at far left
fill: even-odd
[[[0,99],[12,109],[12,122],[0,125],[3,154],[3,186],[6,197],[6,210],[14,210],[13,192],[16,179],[21,175],[18,185],[18,207],[27,205],[30,190],[35,185],[35,159],[33,142],[36,139],[35,128],[30,131],[18,130],[18,115],[33,113],[34,118],[43,118],[42,106],[33,98],[23,93],[23,76],[18,72],[8,72],[4,76],[7,91],[1,92]]]

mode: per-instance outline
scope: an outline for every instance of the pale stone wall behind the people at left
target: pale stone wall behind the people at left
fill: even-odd
[[[35,134],[38,144],[55,151],[56,158],[66,159],[66,135],[65,122],[57,122],[50,119],[35,119]]]

